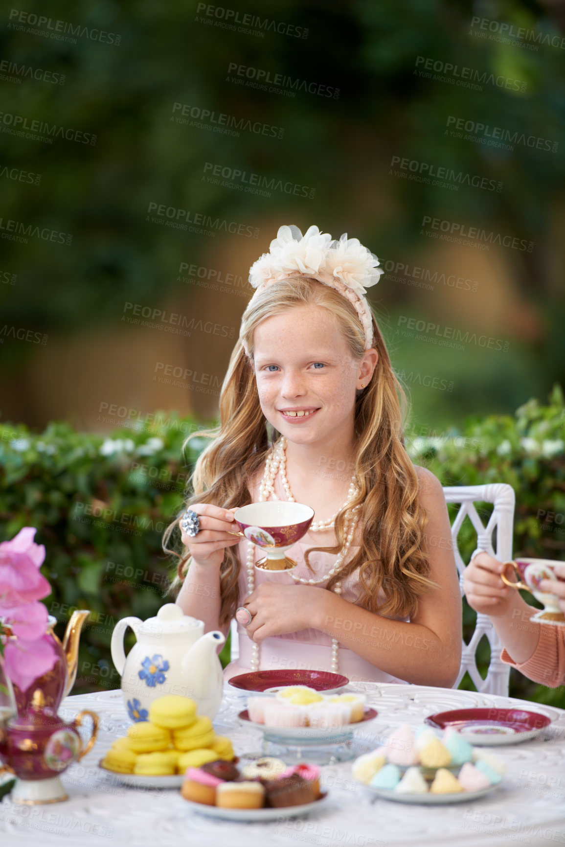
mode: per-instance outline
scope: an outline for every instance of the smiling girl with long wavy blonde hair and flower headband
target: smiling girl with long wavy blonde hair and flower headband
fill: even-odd
[[[378,264],[357,239],[283,226],[251,268],[257,291],[219,428],[180,521],[177,603],[207,630],[238,622],[226,678],[296,667],[357,681],[457,678],[462,611],[446,502],[403,446],[402,388],[364,296]],[[269,499],[314,509],[288,551],[293,571],[256,570],[262,554],[234,537],[232,512]]]

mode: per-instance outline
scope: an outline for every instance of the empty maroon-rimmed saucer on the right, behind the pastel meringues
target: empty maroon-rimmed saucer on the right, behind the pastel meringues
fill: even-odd
[[[455,709],[426,717],[430,727],[451,727],[471,744],[498,746],[519,744],[535,738],[548,727],[551,718],[539,711],[524,709]]]

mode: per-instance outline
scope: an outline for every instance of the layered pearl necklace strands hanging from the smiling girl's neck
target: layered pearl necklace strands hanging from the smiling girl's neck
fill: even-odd
[[[274,479],[276,477],[277,472],[281,468],[281,465],[282,465],[282,470],[281,470],[280,476],[281,476],[281,479],[283,481],[283,485],[285,486],[285,491],[286,491],[286,494],[288,495],[288,499],[291,502],[296,502],[294,497],[292,496],[291,487],[288,484],[288,479],[286,479],[286,476],[284,474],[285,446],[286,446],[285,437],[282,436],[280,441],[282,442],[281,446],[277,447],[276,452],[273,450],[272,453],[269,453],[269,456],[267,457],[267,459],[265,461],[265,471],[263,473],[263,479],[262,479],[261,484],[259,486],[259,501],[260,502],[262,502],[264,500],[268,500],[269,494],[273,496],[274,500],[279,499],[277,497],[277,495],[275,495],[275,493],[274,493]],[[354,479],[352,479],[352,484],[350,485],[350,488],[349,488],[349,493],[348,493],[348,498],[347,498],[346,503],[348,503],[351,500],[350,495],[354,495],[355,491],[357,490],[353,486],[354,486]],[[344,508],[346,506],[346,503],[341,508]],[[360,508],[361,508],[361,505],[359,504],[358,506],[356,506],[353,509],[346,512],[346,526],[345,526],[346,542],[343,545],[339,555],[337,556],[337,559],[335,560],[334,567],[332,567],[330,569],[330,573],[327,573],[324,577],[322,577],[322,579],[303,579],[302,577],[296,577],[294,575],[294,573],[291,573],[292,579],[294,579],[296,582],[301,582],[305,585],[317,585],[317,584],[325,582],[328,579],[331,579],[331,577],[339,571],[342,563],[346,559],[347,553],[349,552],[349,548],[352,545],[352,540],[353,540],[353,537],[355,535],[355,530],[357,529],[357,522],[358,522],[358,519],[359,519],[358,511],[359,511]],[[333,522],[334,522],[336,516],[337,516],[337,512],[335,513],[333,518],[330,518],[330,520],[332,521],[331,526],[334,525]],[[324,526],[323,526],[323,524],[324,524]],[[329,528],[330,528],[330,526],[328,524],[328,521],[319,521],[319,523],[316,527],[317,530],[319,530],[319,529],[329,529]],[[310,526],[310,529],[312,529],[312,524]],[[255,590],[255,545],[252,543],[252,541],[247,541],[246,571],[247,571],[247,592],[248,592],[248,594],[252,594],[252,592]],[[341,594],[341,582],[336,583],[333,590],[334,590],[335,594],[340,595]],[[252,671],[258,671],[258,669],[259,669],[259,650],[260,650],[260,645],[255,644],[255,642],[253,642],[252,643],[252,653],[251,653],[251,669],[252,669]],[[340,650],[339,641],[335,638],[331,639],[331,673],[337,673],[338,672],[339,650]]]

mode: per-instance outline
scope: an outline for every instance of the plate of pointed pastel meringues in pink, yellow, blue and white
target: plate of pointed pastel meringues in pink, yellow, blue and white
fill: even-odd
[[[414,732],[406,724],[352,766],[359,782],[397,794],[480,791],[500,783],[505,772],[497,756],[472,747],[451,727],[438,737],[429,727]]]

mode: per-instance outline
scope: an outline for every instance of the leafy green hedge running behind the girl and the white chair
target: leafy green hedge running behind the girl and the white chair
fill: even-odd
[[[126,615],[150,617],[164,601],[175,568],[163,555],[161,536],[182,507],[204,440],[192,439],[185,456],[182,444],[200,427],[173,412],[131,422],[111,437],[62,423],[41,434],[23,424],[0,424],[0,540],[23,526],[37,528],[36,540],[47,548],[42,571],[53,586],[47,606],[58,617],[59,634],[75,607],[92,610],[75,693],[119,685],[109,650],[115,623]],[[444,485],[511,484],[517,495],[514,554],[563,559],[564,434],[565,406],[556,386],[546,406],[530,400],[514,418],[471,418],[462,432],[411,432],[407,449]],[[489,507],[480,512],[488,518]],[[460,540],[467,561],[475,546],[470,524]],[[473,626],[474,612],[466,606],[466,637]],[[488,650],[479,658],[484,667]],[[511,694],[565,706],[563,689],[546,689],[514,671]]]

